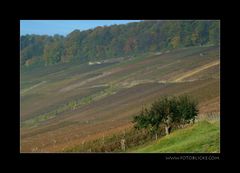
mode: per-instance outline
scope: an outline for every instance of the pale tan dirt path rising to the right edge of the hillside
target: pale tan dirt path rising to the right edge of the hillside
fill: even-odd
[[[201,67],[197,67],[194,70],[186,72],[181,77],[178,77],[177,79],[174,80],[174,82],[180,82],[180,81],[182,81],[183,79],[185,79],[185,78],[187,78],[189,76],[192,76],[192,75],[194,75],[196,73],[199,73],[199,72],[201,72],[201,71],[203,71],[205,69],[208,69],[208,68],[213,67],[213,66],[218,65],[218,64],[220,64],[220,61],[216,60],[216,61],[210,62],[208,64],[205,64],[205,65],[203,65]]]

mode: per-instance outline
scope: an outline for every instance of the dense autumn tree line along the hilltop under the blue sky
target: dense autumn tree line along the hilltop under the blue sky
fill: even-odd
[[[23,35],[20,62],[21,65],[39,61],[45,65],[86,62],[219,42],[219,21],[141,21],[74,30],[65,37]]]

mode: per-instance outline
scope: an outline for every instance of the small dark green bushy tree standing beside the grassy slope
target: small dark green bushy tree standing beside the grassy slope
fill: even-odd
[[[160,125],[164,125],[168,135],[173,126],[190,123],[198,114],[197,103],[189,96],[162,97],[155,101],[149,109],[142,109],[135,116],[135,128],[146,128],[157,134]]]

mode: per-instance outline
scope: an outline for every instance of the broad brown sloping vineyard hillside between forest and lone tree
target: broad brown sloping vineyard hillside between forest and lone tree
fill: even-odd
[[[219,112],[219,47],[191,47],[104,64],[21,70],[21,152],[59,152],[131,126],[142,105],[189,94]]]

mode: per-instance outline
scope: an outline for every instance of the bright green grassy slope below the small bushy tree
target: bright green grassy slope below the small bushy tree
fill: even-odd
[[[158,141],[131,149],[137,153],[219,153],[219,122],[198,122]]]

